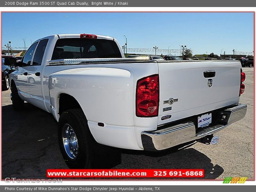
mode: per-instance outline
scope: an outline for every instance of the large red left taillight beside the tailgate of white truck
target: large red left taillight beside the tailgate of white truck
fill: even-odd
[[[153,117],[158,115],[159,77],[148,76],[137,82],[136,116]]]

